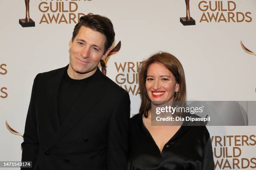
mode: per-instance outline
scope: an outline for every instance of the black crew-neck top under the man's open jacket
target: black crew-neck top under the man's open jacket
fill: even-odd
[[[72,107],[76,104],[86,85],[92,80],[93,75],[82,80],[74,80],[69,77],[67,70],[64,72],[58,92],[58,116],[60,125],[62,125],[67,115],[71,112]]]

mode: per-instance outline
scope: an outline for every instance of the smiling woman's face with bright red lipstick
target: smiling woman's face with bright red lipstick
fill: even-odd
[[[179,84],[164,65],[152,63],[148,67],[146,90],[151,101],[173,101],[174,92],[179,91]]]

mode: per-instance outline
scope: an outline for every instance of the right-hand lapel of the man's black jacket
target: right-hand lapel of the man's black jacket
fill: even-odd
[[[64,135],[69,133],[75,125],[77,125],[90,110],[97,105],[101,96],[106,92],[105,77],[97,68],[94,77],[88,83],[82,92],[81,97],[72,108],[72,111],[66,117],[56,136],[51,141],[49,149],[53,147]]]

